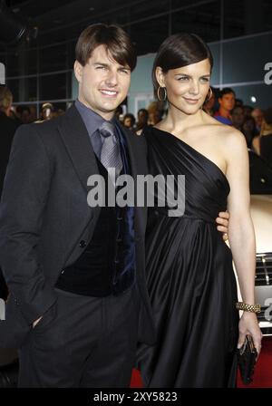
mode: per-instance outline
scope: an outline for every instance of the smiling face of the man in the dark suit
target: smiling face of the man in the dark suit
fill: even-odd
[[[105,120],[127,97],[131,69],[113,60],[104,45],[97,46],[85,66],[75,61],[74,73],[79,82],[79,101]]]

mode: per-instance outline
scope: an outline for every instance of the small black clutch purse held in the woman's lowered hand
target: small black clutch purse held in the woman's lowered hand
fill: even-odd
[[[238,367],[243,383],[253,381],[254,368],[257,361],[257,350],[251,335],[246,335],[245,343],[238,348]]]

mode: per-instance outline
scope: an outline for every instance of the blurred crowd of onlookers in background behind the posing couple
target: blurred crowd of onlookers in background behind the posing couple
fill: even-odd
[[[224,88],[221,91],[211,88],[211,91],[202,107],[203,110],[216,120],[241,131],[246,137],[248,149],[256,152],[272,167],[272,108],[262,110],[245,105],[231,88]],[[12,93],[6,86],[2,86],[1,94],[0,111],[17,125],[52,120],[64,113],[63,109],[46,102],[41,106],[40,118],[37,120],[36,105],[14,106]],[[125,127],[140,135],[145,126],[159,122],[164,117],[166,109],[165,103],[151,102],[146,109],[140,109],[135,117],[131,112],[124,113],[126,106],[119,106],[116,117]]]

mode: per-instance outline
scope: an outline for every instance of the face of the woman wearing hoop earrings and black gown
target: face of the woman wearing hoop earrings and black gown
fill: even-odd
[[[170,69],[167,73],[162,73],[157,67],[156,76],[160,86],[166,87],[170,108],[194,114],[202,107],[209,91],[209,59]]]

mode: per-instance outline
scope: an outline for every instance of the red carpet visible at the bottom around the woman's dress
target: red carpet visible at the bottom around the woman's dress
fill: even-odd
[[[131,388],[142,388],[141,373],[133,370]],[[264,337],[262,352],[257,360],[254,380],[244,385],[238,373],[238,388],[272,388],[272,337]]]

